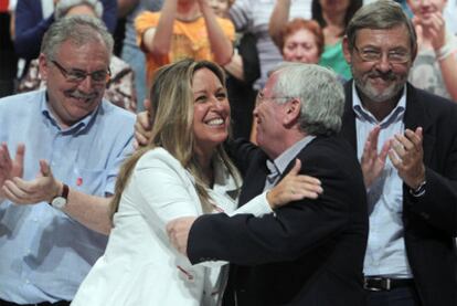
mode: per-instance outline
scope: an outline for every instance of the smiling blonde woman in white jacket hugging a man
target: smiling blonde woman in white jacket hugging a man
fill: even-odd
[[[151,141],[119,173],[107,249],[72,305],[220,303],[226,281],[222,264],[192,266],[170,244],[166,224],[180,217],[236,209],[241,179],[222,147],[230,126],[224,78],[217,65],[193,60],[157,72],[151,89]],[[302,176],[284,181],[276,191],[318,183]],[[285,194],[291,193],[272,190],[236,212],[269,213],[293,199]]]

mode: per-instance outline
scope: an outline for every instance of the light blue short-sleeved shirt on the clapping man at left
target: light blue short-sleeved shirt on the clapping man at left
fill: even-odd
[[[25,144],[24,179],[50,162],[71,190],[113,193],[119,166],[131,152],[135,116],[104,101],[83,120],[61,129],[44,91],[0,99],[0,141],[13,158]],[[0,203],[0,298],[18,304],[71,300],[107,238],[45,202]]]

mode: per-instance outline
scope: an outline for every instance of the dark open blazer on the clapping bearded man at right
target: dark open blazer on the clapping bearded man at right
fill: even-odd
[[[342,135],[357,148],[352,82]],[[423,127],[426,192],[403,186],[406,254],[423,306],[457,305],[457,105],[407,84],[405,127]],[[355,150],[357,151],[357,150]]]

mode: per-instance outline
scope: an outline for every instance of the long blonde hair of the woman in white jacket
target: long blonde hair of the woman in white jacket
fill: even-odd
[[[137,150],[120,168],[111,201],[111,218],[118,210],[121,193],[135,165],[145,152],[157,147],[164,148],[194,177],[195,190],[203,211],[212,210],[212,199],[206,191],[209,186],[194,154],[192,78],[201,68],[212,71],[225,87],[224,72],[216,64],[208,61],[187,59],[162,66],[155,73],[150,92],[152,136],[148,146]],[[216,147],[213,161],[214,159],[219,159],[238,183],[238,171],[222,144]]]

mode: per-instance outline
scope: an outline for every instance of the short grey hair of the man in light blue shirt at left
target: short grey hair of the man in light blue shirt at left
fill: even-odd
[[[66,41],[81,46],[100,40],[110,57],[114,40],[103,21],[89,15],[68,15],[51,24],[44,33],[41,53],[46,56],[46,60],[55,60],[57,50]]]

